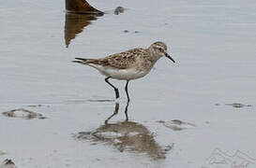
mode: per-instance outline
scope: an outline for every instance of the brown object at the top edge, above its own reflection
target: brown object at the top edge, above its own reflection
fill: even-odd
[[[66,0],[66,10],[69,13],[104,15],[104,12],[90,6],[85,0]]]

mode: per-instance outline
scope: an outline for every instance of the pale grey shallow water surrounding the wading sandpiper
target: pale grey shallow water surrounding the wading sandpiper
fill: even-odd
[[[68,48],[63,1],[10,0],[1,5],[0,112],[23,108],[47,119],[1,114],[0,151],[5,154],[0,155],[0,162],[9,158],[26,168],[212,168],[245,162],[255,167],[253,1],[89,3],[108,14],[88,25],[71,20],[69,26],[75,25],[72,21],[78,26],[68,30],[77,31],[69,36]],[[117,6],[128,9],[113,15]],[[71,61],[77,56],[98,58],[146,48],[157,40],[168,45],[177,63],[161,59],[148,76],[130,82],[131,127],[125,124],[125,82],[113,80],[121,98],[118,114],[109,124],[122,132],[106,134],[102,130],[105,120],[116,109],[114,92],[95,69]],[[177,125],[182,129],[174,131],[164,125],[173,119],[195,126]],[[120,128],[120,123],[125,127]],[[136,134],[133,125],[142,132]],[[74,138],[98,130],[112,135],[111,141]],[[126,143],[120,140],[125,132],[129,135]],[[142,137],[137,138],[140,133]],[[142,143],[142,138],[151,143]],[[158,154],[161,159],[152,157]]]

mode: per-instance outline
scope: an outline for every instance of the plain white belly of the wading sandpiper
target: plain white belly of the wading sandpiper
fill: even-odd
[[[136,79],[140,77],[144,77],[148,72],[147,71],[139,71],[137,69],[113,69],[108,68],[105,69],[103,72],[101,71],[101,74],[107,76],[116,78],[119,80],[131,80]]]

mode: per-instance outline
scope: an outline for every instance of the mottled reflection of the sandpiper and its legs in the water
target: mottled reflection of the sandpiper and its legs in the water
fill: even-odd
[[[144,153],[153,160],[165,159],[167,151],[173,148],[173,144],[160,147],[155,140],[156,134],[135,121],[128,120],[128,104],[125,109],[126,120],[109,123],[119,111],[119,104],[115,103],[113,115],[105,120],[105,124],[92,132],[75,133],[76,140],[87,140],[93,144],[104,143],[115,147],[120,152],[130,151]]]

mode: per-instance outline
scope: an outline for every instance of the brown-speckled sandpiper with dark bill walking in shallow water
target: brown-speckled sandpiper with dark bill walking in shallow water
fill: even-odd
[[[116,98],[119,97],[119,91],[109,82],[109,79],[127,80],[125,89],[129,102],[128,82],[147,75],[154,64],[157,63],[158,59],[163,56],[175,63],[173,58],[167,53],[167,46],[163,42],[158,41],[153,43],[148,49],[129,49],[98,59],[75,58],[76,61],[73,62],[82,63],[98,69],[100,74],[106,76],[105,81],[113,87]]]

